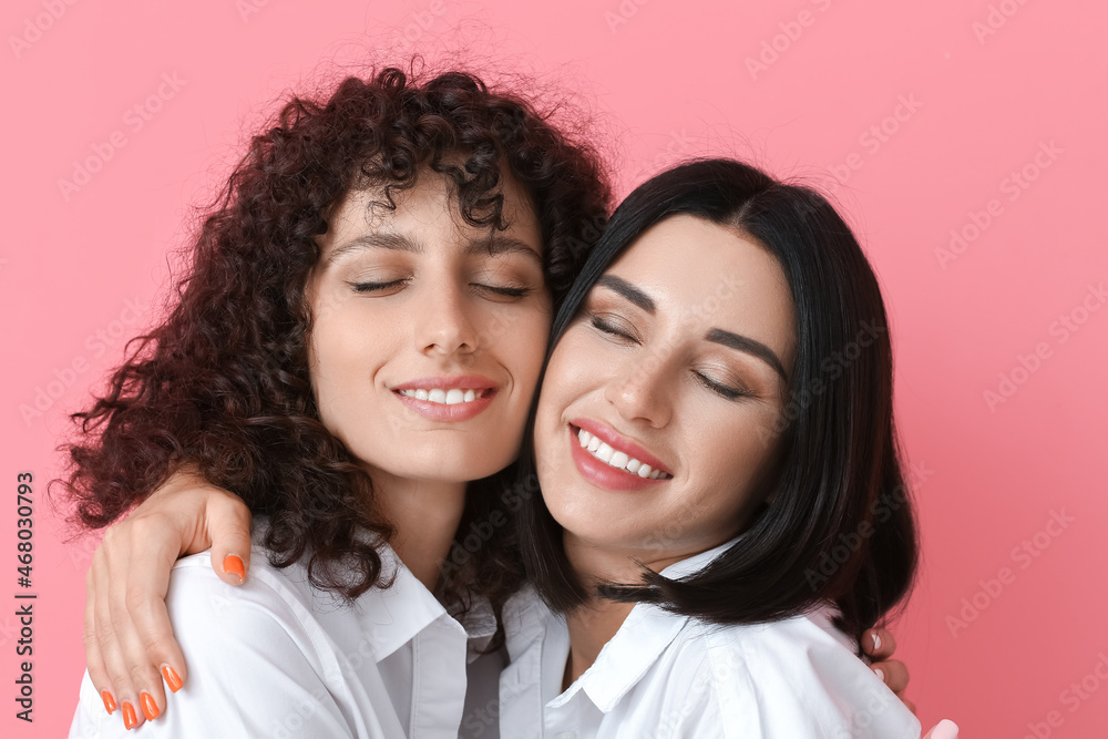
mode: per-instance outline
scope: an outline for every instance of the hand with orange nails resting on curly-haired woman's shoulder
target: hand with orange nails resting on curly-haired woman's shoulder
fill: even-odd
[[[85,575],[85,659],[100,712],[114,712],[122,726],[119,711],[127,710],[137,726],[165,711],[164,685],[176,691],[188,677],[165,606],[170,569],[177,557],[211,546],[219,578],[242,584],[249,528],[242,500],[185,473],[107,528]]]

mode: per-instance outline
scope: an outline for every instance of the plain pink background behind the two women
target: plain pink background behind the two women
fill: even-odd
[[[62,544],[52,450],[153,315],[189,208],[314,71],[367,44],[465,44],[576,89],[620,195],[707,153],[834,187],[885,289],[917,470],[923,572],[896,635],[921,718],[1105,736],[1102,3],[69,1],[0,11],[0,732],[69,726],[91,544]],[[12,702],[20,471],[38,496],[33,725]]]

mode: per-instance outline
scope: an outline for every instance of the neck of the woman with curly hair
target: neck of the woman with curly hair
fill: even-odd
[[[390,542],[397,556],[427,589],[439,584],[465,507],[464,482],[384,478],[373,474],[373,491],[384,517],[396,526]]]

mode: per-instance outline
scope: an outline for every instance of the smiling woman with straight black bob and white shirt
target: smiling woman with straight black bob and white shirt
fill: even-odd
[[[854,656],[916,534],[881,292],[834,208],[735,161],[665,172],[616,209],[551,347],[502,727],[919,737]]]

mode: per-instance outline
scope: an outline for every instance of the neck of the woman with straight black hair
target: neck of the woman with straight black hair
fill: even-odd
[[[643,567],[661,572],[688,555],[661,556],[656,552],[628,552],[592,546],[568,532],[564,534],[566,558],[586,592],[593,593],[599,582],[635,585],[643,582]],[[640,564],[642,563],[642,564]],[[562,689],[565,690],[593,666],[604,645],[630,615],[634,603],[617,603],[589,596],[588,601],[566,616],[570,629],[570,658],[566,660]]]

